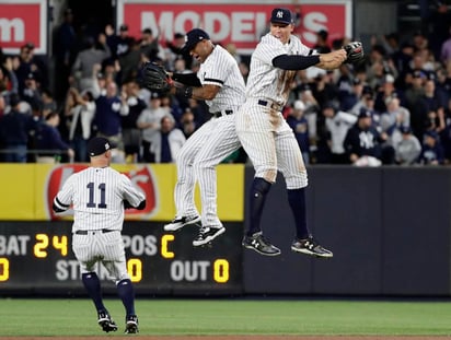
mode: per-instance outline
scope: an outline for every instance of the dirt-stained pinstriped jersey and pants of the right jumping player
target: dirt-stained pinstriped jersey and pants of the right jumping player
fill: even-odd
[[[297,71],[276,68],[273,59],[309,52],[310,49],[293,35],[285,45],[270,33],[263,36],[251,57],[246,102],[236,113],[236,132],[254,165],[255,177],[275,183],[280,171],[288,189],[308,185],[301,151],[281,114]],[[273,104],[276,107],[271,107]]]

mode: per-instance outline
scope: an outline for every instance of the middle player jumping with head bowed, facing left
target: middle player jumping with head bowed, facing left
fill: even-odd
[[[173,92],[187,98],[206,101],[211,119],[192,134],[177,154],[177,184],[174,189],[175,219],[164,225],[165,231],[177,231],[201,221],[194,246],[203,246],[224,233],[217,213],[216,165],[238,150],[241,144],[235,132],[234,113],[244,102],[244,79],[236,60],[209,35],[199,28],[186,34],[183,47],[200,62],[197,74],[173,73],[182,87]],[[196,180],[199,184],[201,218],[194,202]]]

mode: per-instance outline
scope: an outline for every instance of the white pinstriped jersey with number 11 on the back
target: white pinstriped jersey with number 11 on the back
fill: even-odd
[[[88,167],[71,175],[55,197],[67,209],[73,203],[72,232],[123,228],[124,200],[137,207],[144,195],[131,180],[111,167]]]

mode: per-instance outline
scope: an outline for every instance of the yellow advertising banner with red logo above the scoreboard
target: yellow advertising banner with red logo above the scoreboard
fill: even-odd
[[[1,164],[0,221],[71,220],[73,212],[51,211],[53,199],[66,179],[86,164]],[[127,209],[126,220],[171,221],[175,216],[174,187],[177,180],[174,164],[113,164],[127,175],[147,197],[144,210]],[[222,221],[243,221],[244,165],[221,164],[218,172],[218,214]],[[195,189],[199,210],[200,194]]]

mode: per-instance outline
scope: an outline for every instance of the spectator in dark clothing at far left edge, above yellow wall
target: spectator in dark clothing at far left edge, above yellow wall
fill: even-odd
[[[21,99],[18,94],[11,94],[11,110],[0,120],[0,144],[4,148],[2,160],[9,163],[26,163],[28,141],[36,121],[30,114],[20,112]]]

